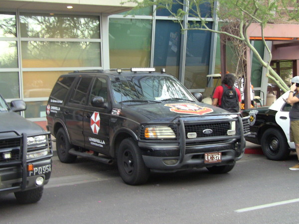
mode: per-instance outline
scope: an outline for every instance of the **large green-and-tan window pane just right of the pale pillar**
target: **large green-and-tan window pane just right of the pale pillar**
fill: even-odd
[[[151,20],[110,18],[110,68],[149,67]]]

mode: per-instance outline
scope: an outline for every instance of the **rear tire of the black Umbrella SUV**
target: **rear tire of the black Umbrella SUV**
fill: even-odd
[[[61,127],[56,135],[56,150],[58,158],[63,163],[72,163],[76,160],[76,155],[71,155],[68,151],[72,148],[65,130]]]

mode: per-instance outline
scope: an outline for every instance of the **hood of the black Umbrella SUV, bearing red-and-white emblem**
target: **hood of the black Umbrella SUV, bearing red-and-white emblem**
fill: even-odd
[[[150,120],[172,120],[177,116],[222,114],[227,111],[212,105],[196,102],[167,102],[155,104],[126,105],[123,110],[129,110],[129,114],[138,114],[148,117]],[[134,112],[133,112],[134,111]],[[168,118],[168,119],[167,119]]]

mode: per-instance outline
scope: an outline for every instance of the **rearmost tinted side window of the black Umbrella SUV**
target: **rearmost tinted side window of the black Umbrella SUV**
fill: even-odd
[[[53,87],[51,98],[63,101],[75,77],[60,77]]]

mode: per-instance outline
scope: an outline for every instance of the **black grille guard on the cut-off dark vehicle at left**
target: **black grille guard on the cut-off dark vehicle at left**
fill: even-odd
[[[19,134],[17,131],[14,130],[4,131],[0,133],[7,133],[7,132],[13,132],[16,135],[11,137],[3,137],[3,138],[0,137],[0,156],[2,156],[3,153],[5,152],[14,151],[14,153],[13,153],[13,158],[11,160],[5,160],[5,159],[0,160],[0,168],[21,167],[22,168],[21,183],[17,186],[0,189],[0,192],[10,191],[14,189],[24,190],[26,188],[26,183],[27,183],[27,152],[30,151],[30,149],[28,150],[28,146],[27,146],[27,137],[36,136],[36,135],[27,136],[26,133]],[[50,131],[42,132],[39,135],[47,135],[47,146],[50,149],[50,154],[47,156],[36,158],[34,160],[40,160],[40,159],[52,157],[53,150],[52,150]],[[31,150],[38,150],[38,149],[40,148],[35,148]],[[32,159],[30,161],[32,161]]]

